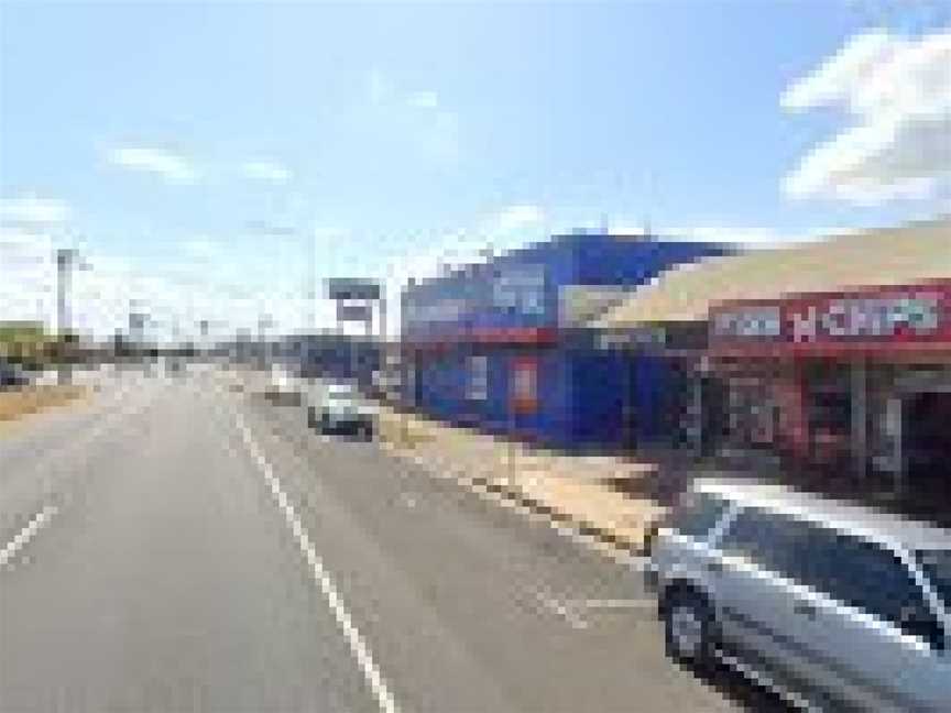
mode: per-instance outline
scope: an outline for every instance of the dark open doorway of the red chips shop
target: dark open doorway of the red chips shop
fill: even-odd
[[[909,493],[951,504],[951,392],[908,394],[901,426]]]

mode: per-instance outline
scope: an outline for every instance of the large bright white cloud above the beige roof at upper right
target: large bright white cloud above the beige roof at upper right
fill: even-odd
[[[780,105],[840,107],[849,117],[786,176],[791,197],[929,198],[951,179],[951,30],[856,35],[794,83]]]

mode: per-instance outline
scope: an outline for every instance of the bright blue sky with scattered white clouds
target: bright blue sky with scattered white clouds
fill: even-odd
[[[0,2],[0,320],[52,323],[57,246],[79,329],[288,332],[311,274],[816,239],[949,212],[949,167],[940,1]]]

